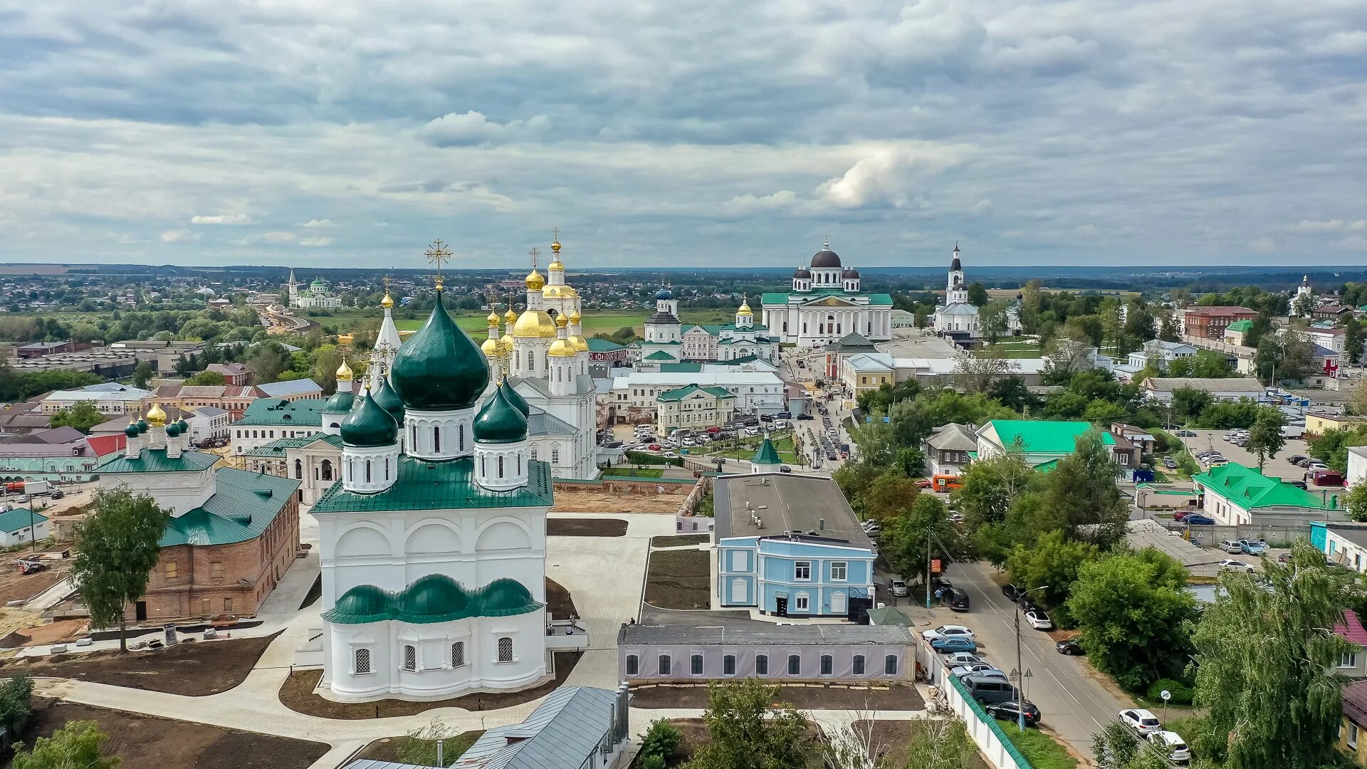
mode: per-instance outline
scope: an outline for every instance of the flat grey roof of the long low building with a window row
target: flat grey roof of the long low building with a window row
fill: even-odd
[[[703,620],[707,621],[707,620]],[[898,625],[622,625],[618,646],[849,646],[852,643],[897,644],[912,640],[912,632]]]

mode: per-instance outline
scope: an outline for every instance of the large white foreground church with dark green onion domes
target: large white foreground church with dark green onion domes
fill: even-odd
[[[342,379],[334,400],[342,480],[312,510],[323,686],[346,701],[437,699],[548,680],[552,468],[533,457],[530,406],[447,315],[440,278],[379,386],[354,394]]]

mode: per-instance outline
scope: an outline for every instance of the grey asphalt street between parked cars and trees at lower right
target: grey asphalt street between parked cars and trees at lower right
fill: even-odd
[[[1016,605],[1007,601],[991,579],[992,566],[986,562],[954,564],[945,576],[954,587],[968,591],[972,610],[964,614],[947,609],[931,612],[934,623],[968,625],[977,636],[979,654],[1006,670],[1016,668]],[[917,620],[925,609],[912,609]],[[919,625],[919,629],[920,628]],[[1044,632],[1021,624],[1021,661],[1032,675],[1025,683],[1025,698],[1043,714],[1043,724],[1073,746],[1077,753],[1092,754],[1092,735],[1114,718],[1120,710],[1133,706],[1124,702],[1091,676],[1087,662],[1068,657],[1054,649],[1054,640]]]

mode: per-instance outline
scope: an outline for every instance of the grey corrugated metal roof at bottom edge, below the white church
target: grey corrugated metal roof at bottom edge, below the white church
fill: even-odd
[[[615,701],[606,688],[560,687],[521,724],[484,732],[452,769],[578,769],[611,728]]]

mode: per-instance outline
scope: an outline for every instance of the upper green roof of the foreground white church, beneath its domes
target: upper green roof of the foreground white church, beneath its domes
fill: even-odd
[[[369,510],[443,510],[469,508],[537,508],[551,505],[551,465],[528,462],[528,484],[513,491],[489,491],[474,483],[474,460],[431,461],[401,456],[394,486],[375,494],[328,487],[313,513]]]

